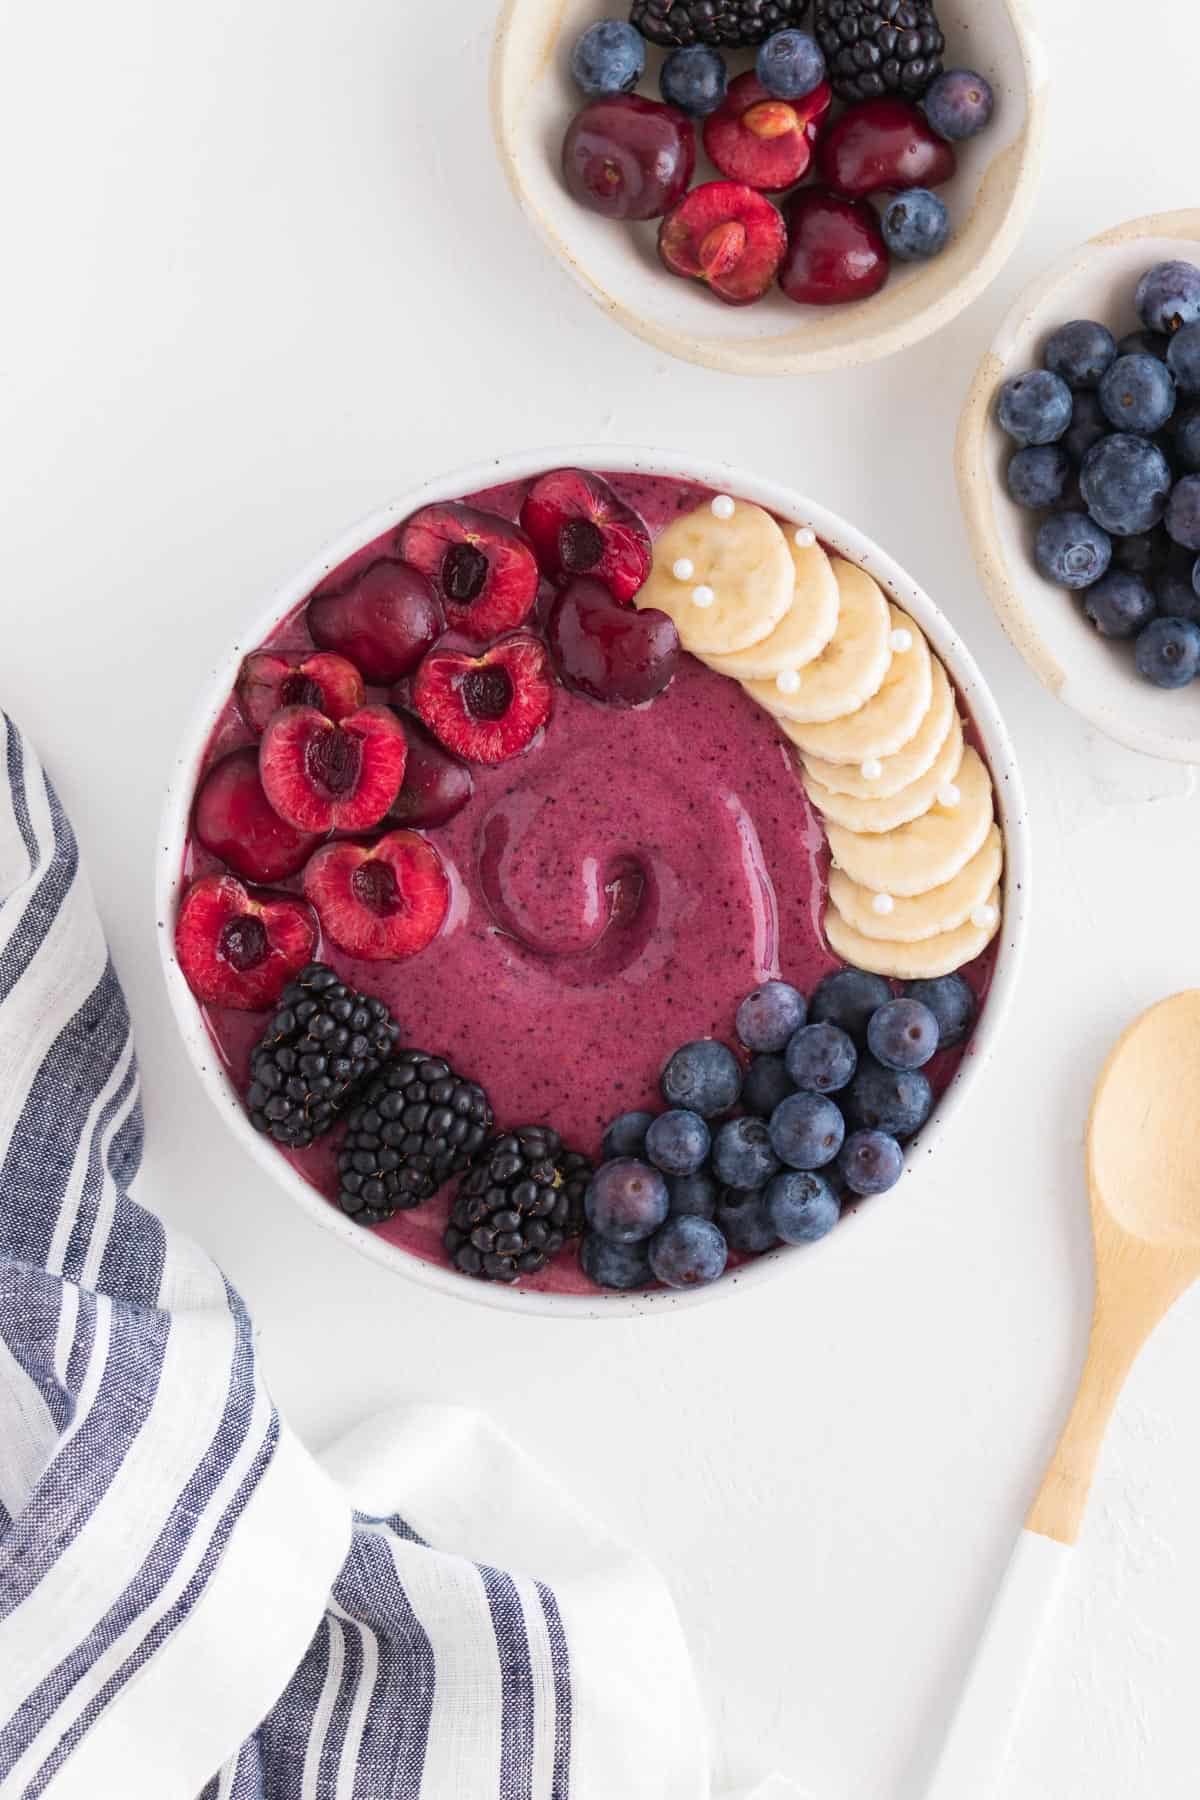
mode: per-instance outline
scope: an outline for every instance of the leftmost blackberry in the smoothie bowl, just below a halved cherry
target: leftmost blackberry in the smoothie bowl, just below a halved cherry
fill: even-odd
[[[250,1051],[250,1123],[275,1143],[304,1150],[336,1125],[398,1037],[383,1001],[347,988],[326,963],[309,963],[282,990],[275,1017]]]

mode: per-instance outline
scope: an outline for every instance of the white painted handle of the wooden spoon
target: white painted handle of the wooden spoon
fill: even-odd
[[[966,1676],[927,1800],[991,1800],[1020,1721],[1069,1544],[1022,1532]]]

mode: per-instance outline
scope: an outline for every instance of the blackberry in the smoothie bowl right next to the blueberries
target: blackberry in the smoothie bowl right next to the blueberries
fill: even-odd
[[[592,1165],[567,1150],[545,1125],[518,1125],[493,1138],[459,1183],[446,1253],[462,1274],[516,1282],[536,1274],[569,1237],[583,1231],[583,1195]]]

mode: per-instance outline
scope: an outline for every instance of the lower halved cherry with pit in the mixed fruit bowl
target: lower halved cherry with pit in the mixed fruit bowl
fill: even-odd
[[[703,281],[727,306],[761,299],[786,248],[777,209],[745,182],[693,187],[658,229],[658,256],[671,274]]]

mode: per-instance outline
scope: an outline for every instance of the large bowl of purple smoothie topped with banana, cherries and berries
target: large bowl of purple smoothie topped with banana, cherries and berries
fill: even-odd
[[[910,1190],[1006,1010],[1025,830],[975,664],[862,533],[543,452],[275,596],[178,756],[160,943],[223,1118],[360,1251],[694,1303]]]

